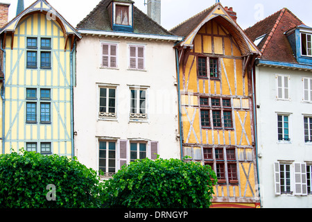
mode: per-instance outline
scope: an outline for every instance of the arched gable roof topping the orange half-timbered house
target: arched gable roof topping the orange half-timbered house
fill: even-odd
[[[234,40],[239,45],[243,56],[261,54],[259,49],[257,49],[257,46],[255,46],[248,36],[245,35],[241,27],[236,24],[220,3],[215,3],[210,8],[207,8],[190,19],[187,19],[187,21],[182,22],[182,24],[179,24],[175,28],[172,28],[171,32],[175,35],[184,36],[184,40],[179,43],[180,46],[192,46],[193,40],[200,28],[211,19],[215,19],[216,22],[227,28],[229,33],[231,33]]]

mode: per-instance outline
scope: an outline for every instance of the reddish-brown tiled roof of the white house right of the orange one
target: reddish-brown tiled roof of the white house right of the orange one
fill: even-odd
[[[300,19],[287,8],[282,8],[266,19],[257,22],[254,26],[247,28],[245,33],[252,41],[263,36],[258,44],[262,59],[297,63],[293,56],[291,44],[284,33],[300,25],[304,25]]]

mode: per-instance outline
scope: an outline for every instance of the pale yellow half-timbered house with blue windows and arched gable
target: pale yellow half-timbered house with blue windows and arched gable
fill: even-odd
[[[71,157],[76,40],[81,36],[44,0],[0,31],[1,153],[36,151]]]

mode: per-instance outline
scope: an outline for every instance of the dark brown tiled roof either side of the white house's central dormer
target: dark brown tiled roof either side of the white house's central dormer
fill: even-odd
[[[83,19],[77,28],[96,30],[96,31],[112,31],[112,26],[110,24],[109,11],[107,6],[109,6],[112,0],[102,0],[92,12]],[[129,1],[129,0],[127,0]],[[124,2],[124,0],[123,0]],[[132,2],[132,1],[129,1]],[[133,33],[141,34],[153,34],[153,35],[173,35],[173,33],[167,31],[165,28],[157,24],[157,22],[150,19],[144,12],[139,10],[137,7],[134,8],[134,20],[133,20]]]

